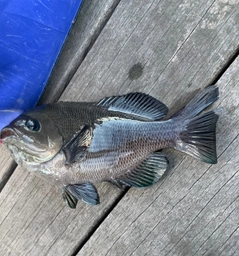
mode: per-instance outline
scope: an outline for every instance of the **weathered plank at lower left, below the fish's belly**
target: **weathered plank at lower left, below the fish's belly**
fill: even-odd
[[[65,206],[58,189],[17,168],[0,199],[0,254],[71,255],[117,191],[101,186],[104,204],[81,203],[73,211]]]

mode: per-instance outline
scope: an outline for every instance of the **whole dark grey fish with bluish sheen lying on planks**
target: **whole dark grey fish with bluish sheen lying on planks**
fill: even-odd
[[[145,188],[165,174],[164,148],[217,163],[216,85],[199,91],[170,118],[167,106],[133,92],[99,102],[57,102],[28,110],[1,131],[15,161],[61,189],[71,208],[100,203],[95,183]]]

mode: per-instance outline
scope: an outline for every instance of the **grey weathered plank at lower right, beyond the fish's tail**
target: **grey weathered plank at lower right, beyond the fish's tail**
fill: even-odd
[[[218,81],[218,164],[182,156],[151,190],[130,189],[77,255],[238,255],[238,66]]]

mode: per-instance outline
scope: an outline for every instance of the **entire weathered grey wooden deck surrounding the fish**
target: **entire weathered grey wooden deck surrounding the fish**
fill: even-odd
[[[85,0],[41,103],[142,91],[170,113],[217,83],[218,164],[167,150],[148,189],[71,210],[0,146],[0,255],[239,255],[239,1]]]

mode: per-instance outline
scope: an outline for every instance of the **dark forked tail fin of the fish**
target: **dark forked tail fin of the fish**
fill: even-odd
[[[218,88],[199,92],[173,119],[182,127],[175,148],[203,162],[217,163],[216,123],[218,115],[209,111],[198,115],[218,99]]]

